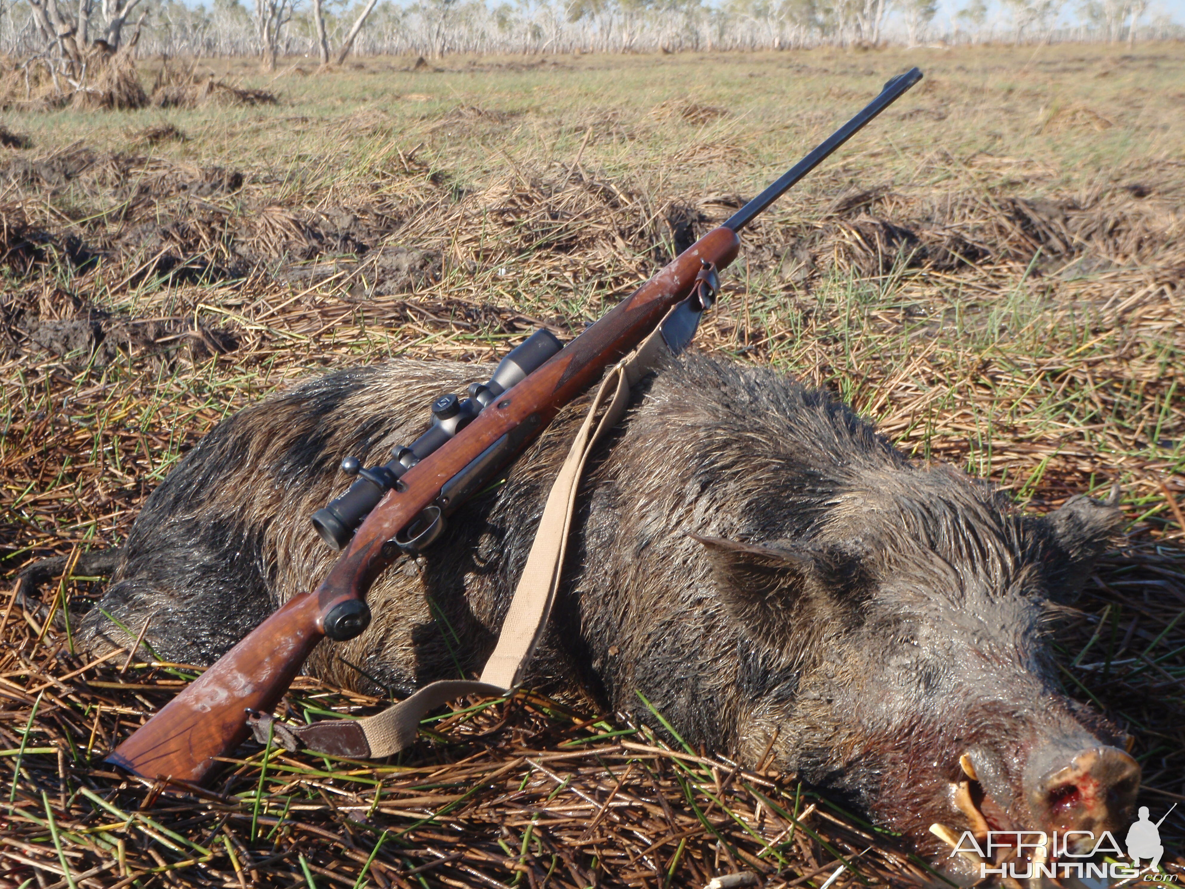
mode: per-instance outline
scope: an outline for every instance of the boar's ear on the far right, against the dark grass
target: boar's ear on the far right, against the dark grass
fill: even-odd
[[[1071,497],[1045,517],[1052,532],[1053,551],[1046,562],[1050,593],[1058,599],[1072,599],[1098,558],[1110,544],[1123,513],[1119,509],[1119,485],[1106,500],[1085,495]]]

